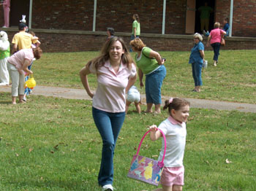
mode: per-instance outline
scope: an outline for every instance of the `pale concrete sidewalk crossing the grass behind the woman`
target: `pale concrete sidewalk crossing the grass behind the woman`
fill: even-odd
[[[0,86],[0,92],[11,92],[11,86]],[[53,96],[59,98],[69,98],[69,99],[82,99],[90,100],[91,98],[87,95],[86,90],[65,88],[65,87],[48,87],[39,86],[34,87],[33,95],[44,95]],[[142,104],[146,104],[145,95],[142,96]],[[168,99],[167,97],[162,97],[162,103]],[[194,99],[186,98],[187,101],[191,103],[191,107],[203,108],[203,109],[220,109],[220,110],[237,110],[239,112],[252,112],[256,113],[256,104],[241,104],[235,102],[227,101],[211,101],[205,99]]]

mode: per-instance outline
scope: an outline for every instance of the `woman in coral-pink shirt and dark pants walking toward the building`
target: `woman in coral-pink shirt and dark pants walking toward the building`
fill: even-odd
[[[219,29],[219,27],[220,24],[218,22],[214,23],[214,29],[211,30],[208,36],[208,42],[206,44],[207,47],[211,44],[211,47],[214,49],[214,66],[217,66],[220,42],[222,42],[222,38],[226,34],[226,32],[222,29]]]

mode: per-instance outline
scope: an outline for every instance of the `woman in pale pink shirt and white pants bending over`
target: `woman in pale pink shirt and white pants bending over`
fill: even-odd
[[[20,103],[23,101],[25,76],[33,74],[33,71],[28,69],[33,58],[39,59],[42,56],[41,48],[22,49],[8,58],[7,69],[12,79],[12,104],[16,104],[18,96]]]

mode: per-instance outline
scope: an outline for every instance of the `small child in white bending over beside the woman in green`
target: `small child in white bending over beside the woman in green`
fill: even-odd
[[[129,88],[129,91],[127,93],[127,102],[125,106],[126,113],[128,112],[129,105],[132,104],[132,102],[135,103],[136,110],[140,114],[140,92],[134,85],[132,85],[132,87]]]

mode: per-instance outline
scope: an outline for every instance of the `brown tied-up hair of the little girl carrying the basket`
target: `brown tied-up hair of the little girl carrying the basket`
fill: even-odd
[[[169,100],[165,100],[165,106],[163,109],[168,109],[168,113],[171,115],[172,109],[178,111],[183,106],[190,106],[189,101],[184,98],[170,98]]]

